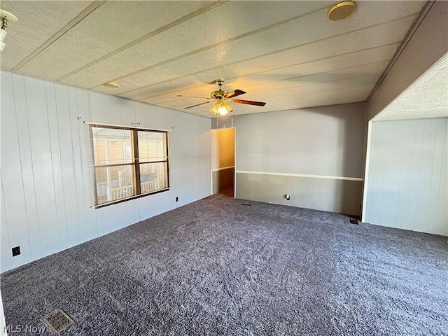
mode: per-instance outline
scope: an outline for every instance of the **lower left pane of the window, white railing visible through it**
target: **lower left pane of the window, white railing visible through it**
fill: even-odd
[[[97,167],[97,204],[135,195],[134,165]]]

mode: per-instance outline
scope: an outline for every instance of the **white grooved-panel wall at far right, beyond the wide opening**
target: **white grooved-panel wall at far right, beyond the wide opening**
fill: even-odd
[[[370,128],[363,221],[448,235],[448,119]]]

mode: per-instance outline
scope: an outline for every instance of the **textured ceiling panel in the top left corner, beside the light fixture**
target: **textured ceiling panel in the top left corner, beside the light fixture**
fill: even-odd
[[[92,1],[1,1],[1,9],[18,18],[17,22],[8,22],[1,68],[13,69],[90,3]]]

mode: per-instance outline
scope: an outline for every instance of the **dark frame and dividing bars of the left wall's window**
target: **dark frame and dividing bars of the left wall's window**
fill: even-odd
[[[152,164],[152,163],[160,163],[160,162],[166,162],[167,163],[167,187],[163,188],[163,189],[159,189],[159,190],[155,190],[153,192],[150,193],[144,193],[141,194],[141,186],[140,186],[140,175],[139,175],[139,169],[140,169],[140,162],[139,162],[139,158],[135,158],[135,155],[133,153],[134,156],[134,160],[133,162],[127,162],[127,163],[120,163],[120,164],[113,164],[113,165],[98,165],[95,166],[94,165],[94,159],[90,158],[89,161],[89,165],[92,167],[93,171],[95,171],[95,168],[98,167],[114,167],[114,166],[134,166],[134,179],[136,180],[135,183],[135,188],[136,188],[136,193],[137,191],[139,192],[137,195],[132,195],[130,197],[125,197],[125,198],[120,198],[119,200],[113,200],[111,202],[105,202],[102,204],[94,204],[92,206],[90,206],[90,208],[93,209],[99,209],[102,207],[108,207],[109,205],[112,204],[118,204],[118,203],[122,203],[122,202],[126,202],[129,200],[134,200],[140,197],[145,197],[145,196],[149,196],[149,195],[155,195],[158,193],[164,193],[165,191],[168,191],[172,188],[172,186],[170,185],[170,172],[171,172],[171,160],[169,160],[170,158],[170,147],[169,147],[169,134],[170,131],[169,130],[159,130],[159,129],[153,129],[153,128],[146,128],[146,127],[130,127],[130,126],[122,126],[122,125],[111,125],[111,124],[104,124],[104,123],[92,123],[92,122],[88,122],[85,121],[84,122],[87,125],[87,129],[89,132],[89,137],[90,137],[90,144],[89,146],[91,146],[91,150],[92,150],[92,155],[94,155],[94,149],[93,149],[93,138],[92,138],[92,127],[104,127],[104,128],[110,128],[110,129],[115,129],[115,130],[129,130],[132,131],[132,141],[134,141],[133,147],[134,147],[134,153],[138,153],[139,151],[139,146],[138,146],[138,137],[134,137],[134,132],[133,131],[143,131],[143,132],[158,132],[158,133],[165,133],[166,137],[167,137],[167,160],[158,160],[158,161],[151,161],[151,162],[142,162],[142,164]],[[90,167],[89,167],[90,169]],[[137,174],[138,172],[138,174]],[[96,179],[95,173],[93,173],[94,179]],[[94,200],[93,203],[97,202],[97,186],[96,186],[96,182],[95,181],[90,181],[90,188],[93,188],[93,192],[94,192]]]

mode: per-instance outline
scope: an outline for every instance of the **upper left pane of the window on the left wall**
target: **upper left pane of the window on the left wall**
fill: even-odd
[[[92,127],[94,165],[133,163],[130,130]]]

